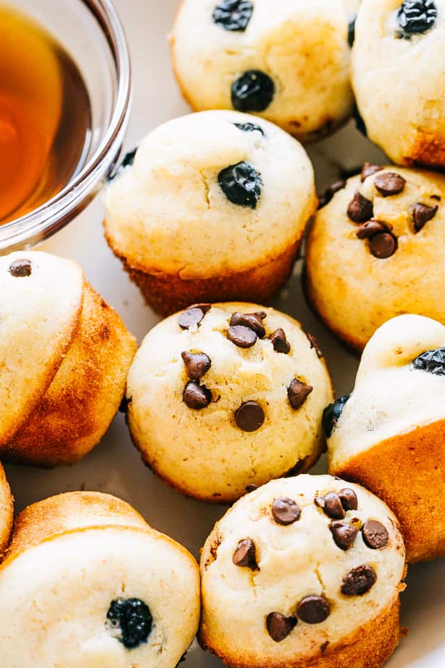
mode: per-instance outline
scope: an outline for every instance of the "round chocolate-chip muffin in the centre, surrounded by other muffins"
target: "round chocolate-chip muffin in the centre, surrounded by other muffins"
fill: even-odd
[[[210,502],[307,470],[324,447],[321,415],[332,397],[320,355],[298,322],[256,304],[199,304],[164,320],[128,376],[128,422],[143,460]]]

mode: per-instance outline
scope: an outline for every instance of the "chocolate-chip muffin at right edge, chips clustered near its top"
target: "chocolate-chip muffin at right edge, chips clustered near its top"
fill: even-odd
[[[402,313],[445,323],[444,203],[444,175],[366,164],[318,211],[305,285],[343,341],[363,349]]]

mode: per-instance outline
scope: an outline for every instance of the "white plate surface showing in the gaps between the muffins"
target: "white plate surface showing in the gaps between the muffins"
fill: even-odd
[[[181,100],[172,76],[167,35],[179,0],[116,0],[133,57],[134,104],[127,148],[160,122],[189,110]],[[354,129],[351,123],[309,150],[317,172],[318,189],[337,179],[339,168],[354,168],[365,160],[382,161],[382,154]],[[77,260],[88,280],[118,310],[129,329],[141,340],[158,320],[144,305],[136,287],[123,273],[102,234],[100,198],[74,223],[59,232],[44,250]],[[316,321],[302,296],[296,275],[276,301],[277,308],[299,319],[318,338],[332,372],[337,394],[352,387],[357,359]],[[122,415],[115,418],[102,443],[72,468],[38,470],[7,466],[17,511],[49,495],[76,489],[105,491],[133,504],[162,532],[183,543],[198,557],[199,550],[223,508],[184,499],[156,479],[140,461],[131,445]],[[325,470],[325,461],[316,472]],[[388,668],[443,668],[445,665],[445,561],[410,569],[408,588],[402,596],[402,623],[410,629]],[[442,623],[441,623],[442,622]],[[1,660],[0,660],[1,663]],[[184,668],[217,668],[219,660],[193,644]],[[354,668],[351,666],[350,668]]]

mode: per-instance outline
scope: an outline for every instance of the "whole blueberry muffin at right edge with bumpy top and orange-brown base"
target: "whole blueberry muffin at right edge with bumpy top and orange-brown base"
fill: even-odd
[[[382,325],[323,425],[330,472],[387,502],[408,561],[445,555],[445,327],[417,315]]]

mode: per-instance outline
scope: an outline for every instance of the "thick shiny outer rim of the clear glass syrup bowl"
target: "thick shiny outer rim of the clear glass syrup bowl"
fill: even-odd
[[[104,137],[85,166],[63,190],[25,216],[0,225],[0,253],[30,248],[78,215],[95,196],[120,155],[131,109],[131,63],[127,38],[111,0],[76,0],[86,6],[102,29],[115,64],[116,92]]]

